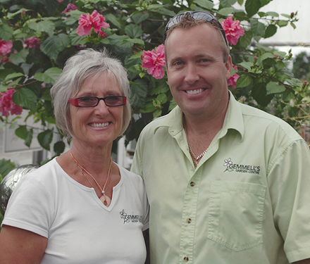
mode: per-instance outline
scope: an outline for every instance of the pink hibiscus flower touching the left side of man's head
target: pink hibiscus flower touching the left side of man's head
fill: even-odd
[[[163,66],[166,65],[165,50],[163,44],[159,45],[156,50],[143,51],[142,67],[147,69],[147,73],[156,79],[162,79],[165,76]]]

